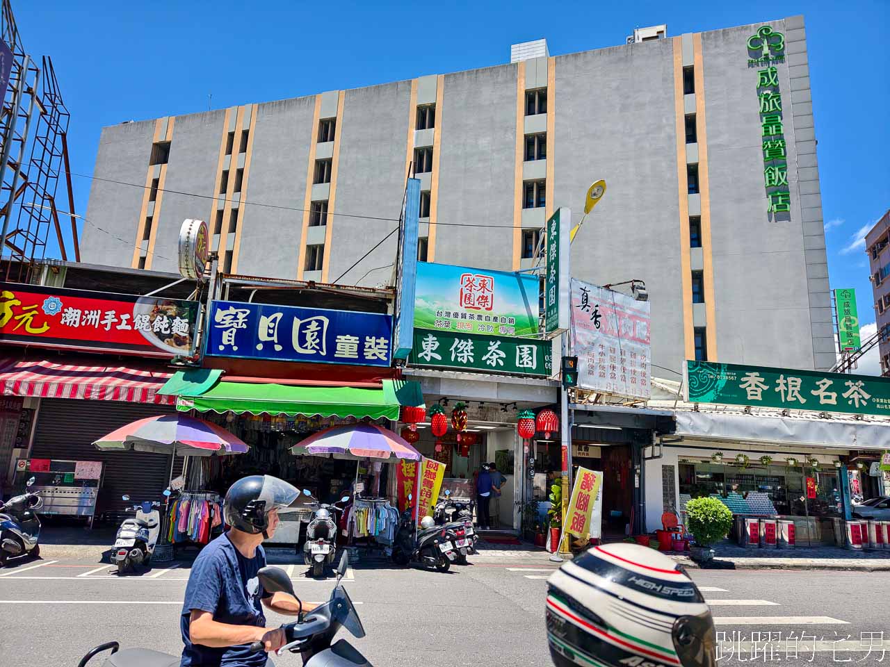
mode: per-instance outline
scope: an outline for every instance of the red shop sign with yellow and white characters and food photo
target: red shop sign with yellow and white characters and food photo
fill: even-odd
[[[198,301],[0,283],[0,342],[190,357]]]

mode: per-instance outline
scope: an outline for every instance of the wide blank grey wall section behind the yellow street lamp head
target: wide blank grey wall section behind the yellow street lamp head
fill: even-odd
[[[584,213],[598,179],[607,194],[571,246],[572,276],[645,280],[652,362],[680,372],[683,287],[671,40],[556,58],[554,206]],[[657,258],[657,259],[656,259]]]

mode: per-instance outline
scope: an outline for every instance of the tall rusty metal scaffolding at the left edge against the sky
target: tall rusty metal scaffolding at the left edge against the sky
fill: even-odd
[[[50,229],[59,254],[68,259],[56,192],[67,185],[71,243],[80,261],[77,221],[68,157],[69,110],[62,100],[53,60],[44,56],[39,67],[25,51],[12,15],[3,0],[0,36],[12,51],[12,70],[0,109],[0,249],[6,279],[28,282],[35,261],[44,259]],[[27,158],[26,158],[27,156]]]

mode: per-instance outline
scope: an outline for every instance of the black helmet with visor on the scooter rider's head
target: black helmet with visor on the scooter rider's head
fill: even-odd
[[[271,475],[241,478],[225,494],[225,522],[245,533],[263,533],[268,539],[271,510],[293,507],[300,490]]]

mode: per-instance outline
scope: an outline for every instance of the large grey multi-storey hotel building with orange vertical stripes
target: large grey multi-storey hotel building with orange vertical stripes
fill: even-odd
[[[666,30],[561,56],[516,44],[509,64],[106,127],[85,261],[174,269],[182,220],[201,218],[231,273],[380,285],[395,235],[343,274],[395,227],[410,169],[421,259],[520,269],[554,207],[577,220],[603,178],[572,274],[645,281],[654,364],[828,368],[803,17]]]

